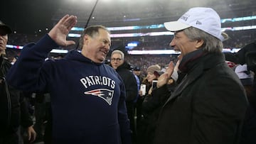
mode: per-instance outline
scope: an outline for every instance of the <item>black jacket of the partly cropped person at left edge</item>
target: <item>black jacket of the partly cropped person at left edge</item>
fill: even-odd
[[[18,126],[27,128],[33,124],[28,113],[28,103],[21,92],[6,82],[6,73],[11,67],[9,60],[0,57],[0,137],[16,133]]]

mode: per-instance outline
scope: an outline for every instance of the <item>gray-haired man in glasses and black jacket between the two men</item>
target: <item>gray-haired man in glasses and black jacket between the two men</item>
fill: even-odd
[[[130,128],[132,130],[132,140],[136,141],[136,133],[134,126],[134,100],[137,99],[138,87],[134,74],[131,71],[131,65],[124,61],[124,52],[121,50],[114,50],[111,54],[110,65],[122,77],[126,92],[127,114],[130,121]]]

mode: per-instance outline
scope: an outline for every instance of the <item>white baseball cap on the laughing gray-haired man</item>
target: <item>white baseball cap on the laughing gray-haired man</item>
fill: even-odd
[[[220,16],[211,8],[195,7],[189,9],[186,13],[178,18],[178,21],[164,23],[169,31],[181,31],[183,29],[194,27],[198,28],[216,38],[223,40],[221,35]]]

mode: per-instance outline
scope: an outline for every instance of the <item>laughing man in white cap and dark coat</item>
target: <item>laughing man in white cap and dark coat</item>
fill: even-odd
[[[213,9],[189,9],[164,26],[174,32],[170,45],[181,51],[178,69],[185,73],[159,113],[154,143],[238,143],[247,109],[240,79],[225,63],[220,17]],[[159,95],[173,62],[159,77]]]

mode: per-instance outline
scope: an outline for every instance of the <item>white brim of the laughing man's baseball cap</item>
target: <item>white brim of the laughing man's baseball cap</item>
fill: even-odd
[[[191,26],[189,26],[186,23],[181,23],[179,21],[171,21],[171,22],[164,23],[164,27],[167,30],[174,32],[174,31],[181,31],[181,30],[189,28]]]

